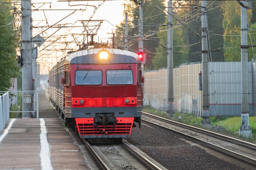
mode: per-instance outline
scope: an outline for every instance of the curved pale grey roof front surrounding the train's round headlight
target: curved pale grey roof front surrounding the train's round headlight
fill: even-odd
[[[107,51],[110,56],[107,60],[99,59],[99,52]],[[140,63],[138,55],[121,49],[86,49],[70,53],[65,57],[64,64],[118,64]]]

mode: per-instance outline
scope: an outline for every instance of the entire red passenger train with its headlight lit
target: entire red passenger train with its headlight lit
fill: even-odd
[[[140,127],[143,82],[136,53],[76,51],[49,72],[49,100],[81,138],[125,138]]]

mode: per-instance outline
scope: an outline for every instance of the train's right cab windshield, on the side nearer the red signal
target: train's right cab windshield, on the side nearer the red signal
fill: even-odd
[[[133,84],[131,70],[107,70],[107,84]]]

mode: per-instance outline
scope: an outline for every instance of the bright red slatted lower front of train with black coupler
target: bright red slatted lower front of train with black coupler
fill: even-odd
[[[96,114],[89,118],[66,118],[65,126],[72,128],[81,138],[126,138],[130,136],[135,122],[141,125],[140,117],[114,117],[114,114]]]

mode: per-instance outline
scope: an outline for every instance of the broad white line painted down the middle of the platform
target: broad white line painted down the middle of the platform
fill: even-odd
[[[50,149],[47,141],[47,130],[45,127],[45,120],[40,118],[40,161],[41,161],[41,170],[53,170],[52,163],[50,159]]]

